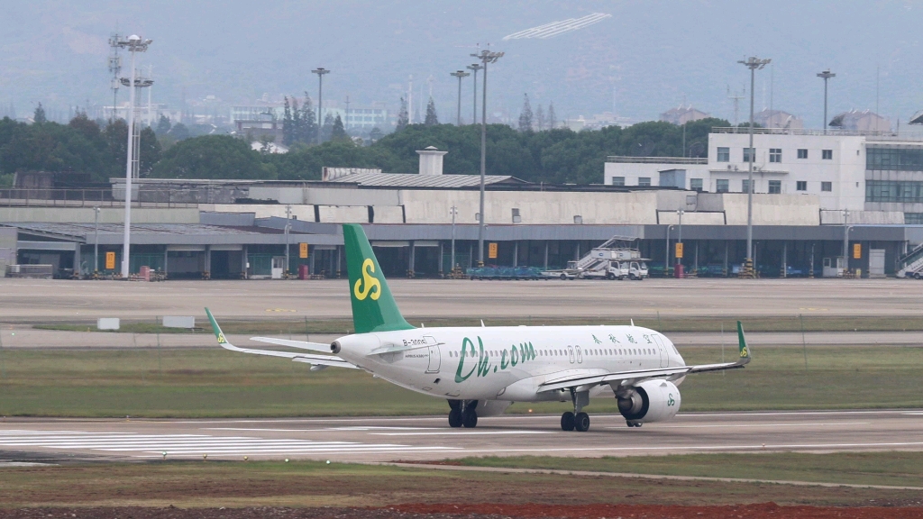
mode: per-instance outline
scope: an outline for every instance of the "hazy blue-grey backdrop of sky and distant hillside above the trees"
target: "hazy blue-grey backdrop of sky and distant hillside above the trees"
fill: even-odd
[[[881,115],[923,109],[923,53],[918,28],[923,1],[816,0],[745,2],[293,2],[202,0],[6,2],[0,9],[0,106],[20,115],[35,103],[52,107],[111,99],[106,40],[115,29],[154,43],[140,60],[153,66],[155,101],[176,106],[215,95],[228,103],[317,94],[310,70],[330,68],[325,99],[353,106],[383,102],[396,109],[409,76],[414,97],[433,96],[443,121],[454,120],[457,80],[476,45],[506,55],[489,74],[488,106],[518,114],[522,94],[555,103],[559,117],[615,111],[656,118],[684,101],[731,118],[727,90],[749,87],[737,60],[771,57],[758,73],[757,109],[801,115],[821,126],[822,81],[831,67],[832,114],[875,109],[880,70]],[[611,14],[583,30],[546,40],[503,36],[593,12]],[[471,78],[462,115],[471,117]],[[120,94],[121,95],[121,94]],[[746,113],[745,103],[741,116]]]

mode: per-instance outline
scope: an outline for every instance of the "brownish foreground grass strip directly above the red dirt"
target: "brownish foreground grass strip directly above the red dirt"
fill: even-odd
[[[721,456],[715,455],[720,461]],[[567,461],[567,460],[562,460]],[[574,461],[574,460],[571,460]],[[918,462],[917,462],[918,463]],[[454,472],[323,462],[150,462],[0,468],[0,508],[390,506],[401,503],[914,504],[917,492]],[[918,504],[917,504],[918,505]]]

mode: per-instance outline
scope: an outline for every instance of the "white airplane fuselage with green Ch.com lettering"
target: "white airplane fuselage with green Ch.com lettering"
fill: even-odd
[[[569,392],[539,386],[569,374],[685,366],[664,335],[637,326],[417,328],[337,342],[339,356],[382,379],[458,400],[569,401]]]

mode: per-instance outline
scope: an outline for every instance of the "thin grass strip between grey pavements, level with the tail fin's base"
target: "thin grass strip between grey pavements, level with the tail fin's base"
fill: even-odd
[[[802,320],[798,316],[791,317],[746,317],[740,318],[748,332],[801,332]],[[455,319],[411,319],[411,324],[419,326],[480,326],[481,320],[476,318]],[[696,318],[669,318],[656,317],[638,318],[634,323],[638,326],[653,328],[659,332],[720,332],[724,327],[725,332],[735,330],[736,320],[716,317]],[[344,333],[353,329],[353,320],[221,320],[222,331],[225,333],[291,333],[303,335],[304,333]],[[533,326],[553,325],[598,325],[598,324],[628,324],[628,319],[548,319],[522,316],[517,319],[485,320],[489,326],[515,326],[520,324]],[[864,316],[818,316],[808,315],[803,320],[805,332],[905,332],[923,331],[923,319],[905,317],[864,317]],[[64,330],[71,332],[95,332],[95,321],[81,322],[46,322],[33,325],[42,330]],[[208,328],[197,328],[194,331],[181,328],[164,328],[156,322],[149,321],[123,321],[119,332],[134,333],[202,333],[210,332]]]

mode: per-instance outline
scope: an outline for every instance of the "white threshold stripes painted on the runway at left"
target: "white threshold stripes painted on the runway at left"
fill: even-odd
[[[401,434],[401,433],[395,433]],[[105,453],[186,454],[295,454],[295,453],[411,453],[442,452],[441,446],[414,446],[399,443],[358,441],[306,441],[264,439],[246,436],[204,434],[138,434],[79,432],[70,430],[2,430],[0,447],[39,447],[43,449],[83,449]]]

